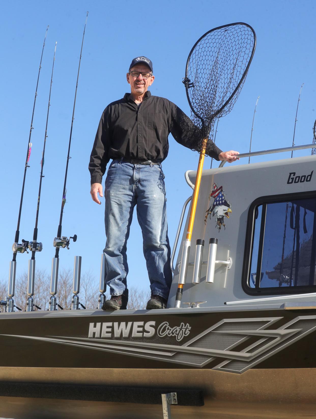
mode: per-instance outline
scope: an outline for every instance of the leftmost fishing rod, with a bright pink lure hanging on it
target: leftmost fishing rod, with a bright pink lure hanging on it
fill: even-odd
[[[31,135],[32,135],[32,129],[34,129],[34,127],[33,127],[33,118],[34,118],[35,103],[36,103],[36,97],[37,97],[37,88],[39,86],[39,74],[41,72],[41,62],[42,62],[42,58],[43,58],[43,52],[44,52],[44,47],[45,47],[45,41],[46,41],[46,36],[47,36],[48,28],[49,28],[49,26],[47,26],[47,28],[46,28],[45,37],[44,37],[44,43],[43,43],[43,48],[42,48],[42,51],[41,51],[41,60],[39,62],[39,73],[37,75],[37,82],[36,82],[36,89],[35,89],[35,96],[34,96],[34,104],[33,104],[33,112],[32,112],[32,119],[31,119],[30,134],[29,134],[28,142],[27,142],[26,162],[25,162],[25,168],[24,168],[24,176],[23,176],[23,184],[22,184],[20,208],[19,208],[19,213],[18,213],[18,225],[16,227],[16,235],[15,235],[15,238],[14,238],[14,243],[12,245],[13,258],[12,258],[12,261],[10,261],[10,269],[9,269],[9,287],[8,287],[8,297],[9,298],[12,298],[14,296],[14,288],[15,288],[15,282],[16,282],[16,254],[17,253],[24,253],[25,251],[26,251],[26,253],[28,253],[28,251],[27,251],[28,243],[26,241],[23,241],[22,240],[22,243],[20,244],[20,243],[18,243],[18,241],[19,241],[19,235],[20,235],[20,221],[21,221],[21,212],[22,212],[22,204],[23,204],[23,195],[24,195],[24,186],[25,186],[26,171],[30,167],[28,165],[28,160],[30,159],[31,149],[32,149]],[[12,301],[11,301],[11,303],[12,303]],[[1,305],[4,305],[3,302],[1,302]],[[9,307],[8,307],[8,304],[7,304],[6,310],[8,308]],[[14,309],[14,303],[13,303],[13,306],[10,309],[13,311],[13,309]]]

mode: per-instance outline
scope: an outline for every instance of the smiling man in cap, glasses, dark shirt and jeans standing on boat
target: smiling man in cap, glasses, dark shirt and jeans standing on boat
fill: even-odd
[[[132,60],[127,72],[131,93],[104,110],[91,152],[91,197],[101,204],[102,176],[110,159],[105,181],[104,249],[106,284],[111,300],[104,310],[126,309],[127,239],[133,209],[142,230],[143,252],[150,280],[147,309],[166,308],[171,287],[170,246],[167,234],[166,190],[161,162],[168,154],[168,135],[192,148],[197,131],[191,119],[174,103],[152,96],[153,64],[146,57]],[[236,160],[236,151],[223,153],[211,141],[206,153],[216,160]]]

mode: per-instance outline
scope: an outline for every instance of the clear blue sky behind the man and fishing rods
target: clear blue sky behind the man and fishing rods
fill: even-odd
[[[260,96],[252,150],[292,145],[300,86],[305,83],[298,112],[295,143],[312,142],[316,118],[315,2],[306,1],[13,1],[2,4],[1,23],[1,252],[0,279],[7,281],[11,245],[31,123],[41,48],[47,25],[46,46],[34,116],[30,168],[27,171],[20,240],[31,240],[39,186],[41,151],[54,45],[57,41],[54,83],[39,211],[38,239],[43,251],[36,267],[50,271],[52,246],[59,222],[75,82],[86,11],[83,57],[79,77],[63,235],[78,235],[70,250],[60,251],[60,266],[73,267],[75,255],[83,256],[83,271],[98,282],[101,252],[105,245],[104,201],[90,197],[88,161],[96,128],[108,103],[128,91],[125,74],[132,58],[144,54],[153,61],[154,95],[175,102],[189,114],[181,83],[185,63],[195,41],[206,31],[233,22],[249,23],[256,31],[257,47],[246,83],[228,116],[218,125],[216,142],[222,150],[249,150],[251,123]],[[198,154],[177,144],[170,136],[170,150],[163,163],[171,244],[184,200],[191,194],[184,172],[196,169]],[[296,153],[302,155],[303,151]],[[280,158],[276,156],[272,158]],[[283,155],[285,157],[285,155]],[[259,158],[253,159],[258,161]],[[237,164],[246,163],[240,161]],[[216,163],[218,164],[218,163]],[[205,168],[210,167],[210,158]],[[127,246],[130,286],[149,287],[142,239],[134,217]],[[17,256],[17,276],[27,270],[29,255]],[[3,297],[3,296],[1,296]]]

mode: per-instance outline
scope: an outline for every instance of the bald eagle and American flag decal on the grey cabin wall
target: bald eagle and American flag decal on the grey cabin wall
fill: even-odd
[[[205,224],[207,222],[207,217],[216,217],[216,228],[218,231],[224,227],[225,230],[225,217],[229,218],[229,214],[231,213],[231,203],[226,199],[223,193],[223,186],[218,187],[215,183],[213,184],[213,189],[210,193],[209,199],[213,198],[212,205],[209,209],[207,209],[205,215]]]

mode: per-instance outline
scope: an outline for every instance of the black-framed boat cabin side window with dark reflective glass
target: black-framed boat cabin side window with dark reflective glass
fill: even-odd
[[[250,211],[248,221],[253,223],[248,251],[246,243],[244,290],[250,294],[315,292],[316,197],[262,202]]]

